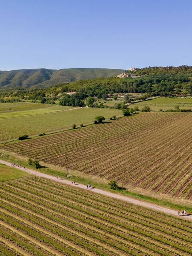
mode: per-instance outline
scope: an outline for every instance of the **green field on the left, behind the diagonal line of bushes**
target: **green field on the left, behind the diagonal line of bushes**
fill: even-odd
[[[72,107],[52,106],[50,110],[67,110]],[[44,109],[47,111],[47,109]],[[32,110],[31,110],[32,111]],[[33,110],[33,111],[38,111]],[[41,110],[42,111],[42,110]],[[20,114],[19,112],[14,112]],[[68,111],[60,111],[48,114],[36,114],[34,116],[22,116],[0,120],[1,134],[0,141],[18,138],[23,134],[39,134],[43,132],[54,132],[66,128],[72,128],[73,124],[93,123],[96,116],[104,116],[109,119],[111,116],[122,116],[121,110],[102,108],[78,108]],[[5,114],[6,116],[6,114]]]

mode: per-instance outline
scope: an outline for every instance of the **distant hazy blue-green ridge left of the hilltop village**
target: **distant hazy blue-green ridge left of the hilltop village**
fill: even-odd
[[[84,79],[113,77],[124,71],[110,68],[66,68],[60,70],[38,68],[0,71],[0,88],[49,87]]]

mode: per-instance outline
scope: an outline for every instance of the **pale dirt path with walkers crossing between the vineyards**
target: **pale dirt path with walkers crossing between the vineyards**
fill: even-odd
[[[11,164],[9,162],[3,161],[3,160],[0,160],[0,163],[5,164],[7,166],[11,166]],[[15,168],[18,168],[18,166],[15,167]],[[63,178],[60,178],[59,180],[56,180],[55,176],[44,174],[42,172],[38,172],[38,171],[27,169],[27,168],[24,169],[22,167],[20,167],[18,169],[22,170],[24,172],[28,172],[30,174],[42,177],[42,178],[54,180],[55,182],[59,182],[59,183],[62,183],[62,184],[67,184],[67,185],[72,186],[72,181],[70,181],[70,180],[65,180]],[[75,186],[78,187],[78,188],[86,189],[86,186],[83,185],[83,184],[76,184]],[[136,204],[136,205],[139,205],[139,206],[142,206],[142,207],[150,208],[152,210],[163,212],[165,214],[171,214],[171,215],[174,215],[174,216],[179,217],[179,218],[184,218],[185,220],[192,221],[192,215],[186,215],[186,216],[180,215],[180,216],[178,216],[178,212],[176,210],[171,210],[171,209],[168,209],[168,208],[163,207],[163,206],[158,206],[158,205],[151,204],[151,203],[148,203],[148,202],[143,202],[143,201],[140,201],[140,200],[137,200],[137,199],[130,198],[128,196],[122,196],[122,195],[111,193],[111,192],[108,192],[106,190],[102,190],[102,189],[98,189],[98,188],[91,188],[90,191],[98,193],[98,194],[102,194],[104,196],[109,196],[109,197],[112,197],[112,198],[123,200],[123,201],[129,202],[129,203],[132,203],[132,204]],[[182,214],[181,211],[184,210],[184,209],[178,209],[178,210],[180,210],[180,214]]]

